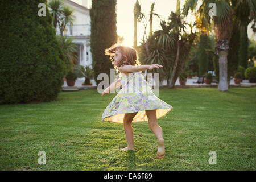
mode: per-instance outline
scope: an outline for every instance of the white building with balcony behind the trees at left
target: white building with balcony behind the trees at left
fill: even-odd
[[[78,64],[92,68],[92,53],[90,52],[90,14],[87,8],[87,0],[82,0],[82,5],[71,0],[63,0],[63,2],[65,6],[74,9],[73,26],[67,26],[67,31],[64,31],[64,35],[73,37],[73,42],[78,46]],[[77,80],[84,79],[85,78],[77,78]]]

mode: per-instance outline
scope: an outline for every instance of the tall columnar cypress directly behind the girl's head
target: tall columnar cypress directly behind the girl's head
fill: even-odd
[[[116,0],[92,0],[90,48],[97,85],[101,82],[101,80],[97,80],[100,73],[107,73],[110,83],[110,69],[113,68],[113,65],[104,52],[106,48],[117,42],[116,4]]]

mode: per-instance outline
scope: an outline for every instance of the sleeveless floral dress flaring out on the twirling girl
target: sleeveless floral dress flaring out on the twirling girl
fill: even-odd
[[[102,121],[123,123],[125,113],[138,112],[132,122],[143,122],[148,121],[145,110],[156,109],[157,119],[172,110],[172,106],[155,96],[141,71],[122,76],[121,85],[122,89],[104,110]]]

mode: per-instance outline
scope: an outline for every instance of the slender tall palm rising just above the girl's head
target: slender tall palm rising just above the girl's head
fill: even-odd
[[[141,22],[142,18],[144,18],[144,14],[141,12],[141,5],[139,4],[138,0],[136,0],[136,3],[134,5],[133,15],[134,15],[133,47],[136,48],[137,47],[137,22]]]

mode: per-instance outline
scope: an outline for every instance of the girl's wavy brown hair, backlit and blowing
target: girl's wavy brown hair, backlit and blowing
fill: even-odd
[[[122,54],[122,59],[119,61],[118,65],[114,65],[113,57],[115,55],[115,52],[118,50]],[[119,67],[123,64],[128,65],[141,65],[141,62],[138,60],[139,56],[136,51],[136,49],[127,47],[127,46],[121,46],[117,44],[113,44],[110,48],[105,49],[105,55],[110,56],[109,59],[112,61],[112,64],[115,68],[115,70],[118,70]]]

